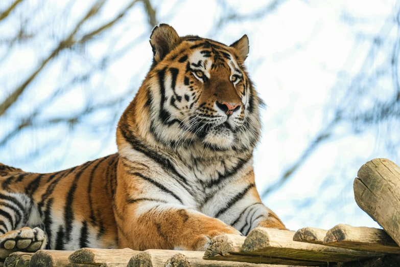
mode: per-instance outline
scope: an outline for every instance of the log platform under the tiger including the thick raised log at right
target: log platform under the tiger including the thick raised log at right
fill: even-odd
[[[400,168],[375,159],[354,182],[357,204],[384,229],[337,225],[329,230],[255,228],[247,237],[220,235],[207,251],[131,249],[16,252],[6,267],[383,267],[400,266]],[[376,206],[378,203],[378,206]],[[387,208],[385,208],[387,207]]]

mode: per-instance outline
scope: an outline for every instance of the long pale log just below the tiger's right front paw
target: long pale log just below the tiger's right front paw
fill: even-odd
[[[348,262],[383,256],[381,253],[296,242],[293,236],[293,231],[255,228],[246,237],[242,251],[275,258],[321,262]]]

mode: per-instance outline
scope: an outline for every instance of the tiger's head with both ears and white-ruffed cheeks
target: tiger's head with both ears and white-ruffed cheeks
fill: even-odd
[[[252,151],[260,138],[262,101],[244,66],[247,36],[225,46],[198,36],[180,37],[161,24],[150,44],[153,64],[127,109],[135,114],[129,130],[175,149],[197,145]]]

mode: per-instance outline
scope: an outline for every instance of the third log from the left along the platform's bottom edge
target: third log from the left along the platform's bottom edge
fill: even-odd
[[[75,251],[69,256],[71,263],[85,263],[92,265],[101,265],[104,262],[125,263],[128,264],[130,258],[139,253],[131,249],[107,250],[107,249],[89,249],[83,248]]]

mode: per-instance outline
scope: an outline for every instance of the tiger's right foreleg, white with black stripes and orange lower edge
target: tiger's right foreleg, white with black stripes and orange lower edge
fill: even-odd
[[[287,230],[276,214],[261,202],[252,170],[230,185],[216,189],[201,210],[238,229],[243,235],[255,227]]]

